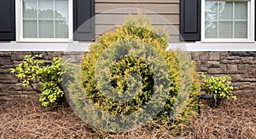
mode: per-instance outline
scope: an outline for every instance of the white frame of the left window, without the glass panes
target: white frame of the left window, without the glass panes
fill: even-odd
[[[68,38],[23,38],[23,0],[16,0],[16,41],[17,42],[72,42],[73,41],[73,0],[68,0]]]

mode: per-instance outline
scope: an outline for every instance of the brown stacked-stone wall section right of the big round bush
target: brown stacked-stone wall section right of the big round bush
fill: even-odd
[[[230,75],[236,93],[256,93],[256,51],[191,52],[196,70],[207,75]]]

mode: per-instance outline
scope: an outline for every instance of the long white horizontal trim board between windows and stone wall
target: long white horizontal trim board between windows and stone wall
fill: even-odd
[[[89,51],[91,43],[0,43],[0,51]],[[169,43],[172,49],[184,51],[256,51],[255,42],[242,43]]]

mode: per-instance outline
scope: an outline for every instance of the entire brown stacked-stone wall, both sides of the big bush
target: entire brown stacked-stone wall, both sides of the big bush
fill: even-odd
[[[62,52],[0,52],[0,101],[26,98],[35,94],[30,87],[24,88],[9,73],[9,68],[23,60],[25,55],[44,54],[45,62],[52,57],[61,56]],[[208,75],[228,74],[236,84],[237,93],[255,92],[256,90],[256,52],[191,52],[192,60],[197,62],[196,70]],[[73,60],[79,58],[72,55]],[[256,92],[255,92],[256,93]]]

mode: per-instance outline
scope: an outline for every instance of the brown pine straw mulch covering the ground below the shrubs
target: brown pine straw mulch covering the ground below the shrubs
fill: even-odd
[[[256,93],[238,95],[219,107],[201,107],[201,116],[177,138],[256,138]],[[40,106],[38,96],[0,103],[0,138],[174,138],[165,128],[104,135],[84,124],[70,107]]]

